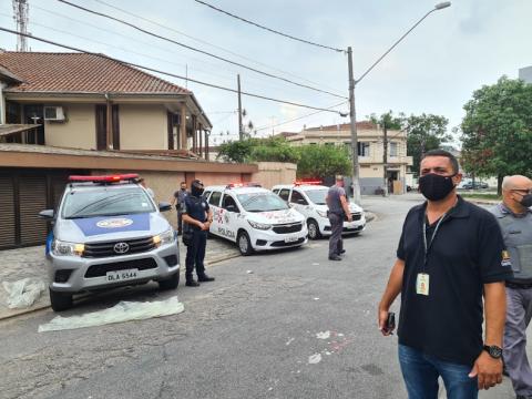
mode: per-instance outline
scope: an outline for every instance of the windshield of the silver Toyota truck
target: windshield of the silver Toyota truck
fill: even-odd
[[[147,194],[139,187],[72,190],[64,198],[64,218],[117,216],[155,212]]]

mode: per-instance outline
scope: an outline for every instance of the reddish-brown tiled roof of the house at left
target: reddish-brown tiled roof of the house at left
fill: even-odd
[[[136,68],[98,54],[0,52],[0,66],[22,83],[9,92],[191,94]]]

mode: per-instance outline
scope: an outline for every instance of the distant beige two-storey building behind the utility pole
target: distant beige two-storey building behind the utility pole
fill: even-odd
[[[358,122],[358,160],[360,164],[360,190],[362,194],[375,194],[381,190],[383,172],[383,132],[370,122]],[[339,124],[319,127],[304,127],[299,133],[280,133],[293,145],[325,144],[346,145],[350,151],[350,125]],[[412,157],[407,155],[407,133],[388,131],[388,171],[389,192],[402,194]]]

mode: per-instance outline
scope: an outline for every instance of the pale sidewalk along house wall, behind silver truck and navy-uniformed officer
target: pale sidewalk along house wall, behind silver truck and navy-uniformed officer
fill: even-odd
[[[185,269],[186,247],[181,243],[180,237],[180,259],[181,272]],[[209,238],[207,241],[207,253],[205,265],[229,259],[239,256],[239,252],[234,244],[229,242]],[[47,265],[44,259],[44,246],[34,246],[28,248],[18,248],[0,250],[0,320],[47,308],[50,306],[48,289],[41,297],[28,309],[9,309],[7,306],[7,293],[1,286],[1,282],[17,282],[22,278],[34,277],[42,279],[48,285]]]

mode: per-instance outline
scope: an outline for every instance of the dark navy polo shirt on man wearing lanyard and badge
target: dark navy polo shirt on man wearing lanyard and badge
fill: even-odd
[[[443,361],[472,366],[483,346],[483,285],[512,276],[503,262],[501,231],[488,211],[459,197],[436,235],[437,223],[427,222],[422,232],[426,207],[410,209],[397,249],[397,257],[405,260],[399,342]],[[427,262],[422,234],[430,246]],[[428,296],[416,291],[420,273],[429,275]]]

